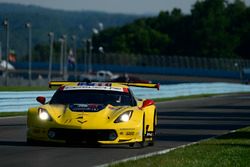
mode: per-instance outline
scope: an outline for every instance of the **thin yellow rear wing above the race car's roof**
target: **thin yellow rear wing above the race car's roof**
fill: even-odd
[[[103,86],[112,86],[112,84],[121,84],[126,86],[133,86],[133,87],[142,87],[142,88],[156,88],[157,90],[160,89],[160,84],[154,83],[129,83],[129,82],[68,82],[68,81],[51,81],[49,82],[49,87],[59,87],[63,85],[103,85]]]

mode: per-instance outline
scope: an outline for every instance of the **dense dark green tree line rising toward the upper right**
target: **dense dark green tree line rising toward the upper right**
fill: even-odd
[[[94,48],[145,55],[250,59],[250,7],[243,1],[197,1],[180,9],[108,28],[93,36]]]

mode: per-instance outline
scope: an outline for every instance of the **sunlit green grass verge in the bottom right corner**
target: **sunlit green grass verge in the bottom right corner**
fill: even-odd
[[[247,167],[250,164],[250,127],[202,141],[167,154],[111,165],[112,167]]]

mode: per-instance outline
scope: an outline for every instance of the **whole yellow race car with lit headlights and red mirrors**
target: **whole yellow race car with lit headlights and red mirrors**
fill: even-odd
[[[147,83],[49,83],[59,88],[42,105],[29,108],[27,142],[154,144],[157,112],[153,100],[134,97],[130,86],[157,88]]]

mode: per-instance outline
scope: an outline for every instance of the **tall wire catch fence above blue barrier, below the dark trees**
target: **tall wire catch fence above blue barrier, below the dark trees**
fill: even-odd
[[[164,55],[133,55],[133,54],[95,54],[93,64],[112,64],[121,66],[171,67],[184,69],[206,69],[220,71],[241,71],[250,68],[250,60],[164,56]]]

